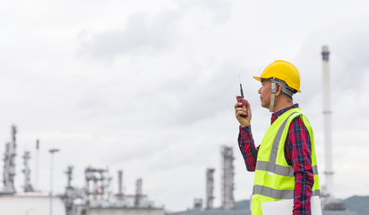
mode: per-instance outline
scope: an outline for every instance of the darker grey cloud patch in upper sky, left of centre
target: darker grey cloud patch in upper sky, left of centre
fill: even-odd
[[[82,43],[80,52],[102,58],[120,54],[157,53],[171,47],[175,32],[175,13],[160,13],[150,21],[144,13],[128,18],[124,30],[107,30]]]

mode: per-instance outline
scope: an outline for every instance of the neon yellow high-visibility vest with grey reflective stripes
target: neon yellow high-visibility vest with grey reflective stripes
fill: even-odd
[[[320,195],[318,168],[313,143],[313,129],[299,107],[279,116],[264,134],[260,145],[253,181],[252,214],[262,215],[262,203],[294,199],[294,168],[287,164],[284,147],[292,120],[301,117],[310,134],[314,174],[312,196]],[[291,209],[292,211],[292,209]]]

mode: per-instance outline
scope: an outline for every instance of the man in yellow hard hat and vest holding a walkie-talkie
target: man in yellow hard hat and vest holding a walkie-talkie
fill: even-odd
[[[300,73],[295,65],[277,60],[253,78],[262,82],[258,91],[262,107],[270,109],[272,115],[271,125],[256,148],[250,104],[246,100],[245,107],[241,102],[235,105],[240,123],[238,145],[247,170],[255,172],[252,214],[262,215],[268,203],[280,204],[277,201],[281,200],[293,201],[289,214],[311,214],[311,197],[319,198],[319,179],[312,126],[292,99],[301,92]]]

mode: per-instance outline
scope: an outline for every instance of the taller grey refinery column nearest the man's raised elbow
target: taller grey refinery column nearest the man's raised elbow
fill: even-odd
[[[222,146],[221,147],[221,187],[222,187],[222,201],[221,207],[223,210],[234,210],[235,209],[235,198],[233,191],[235,189],[234,183],[234,166],[233,166],[233,150],[232,147]]]

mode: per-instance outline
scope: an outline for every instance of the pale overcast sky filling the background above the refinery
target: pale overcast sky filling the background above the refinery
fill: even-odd
[[[330,47],[334,195],[369,190],[369,3],[367,1],[15,0],[0,2],[0,140],[19,127],[21,155],[40,140],[39,188],[55,193],[64,170],[84,185],[89,165],[124,171],[124,192],[143,192],[180,211],[205,198],[206,168],[215,171],[220,205],[220,146],[233,147],[235,198],[250,198],[253,174],[237,147],[239,79],[253,108],[255,142],[270,125],[253,75],[276,59],[296,64],[295,96],[313,125],[320,172],[322,46]],[[5,145],[0,145],[4,154]],[[3,165],[1,165],[3,166]],[[3,169],[0,170],[3,172]],[[33,175],[32,175],[33,174]],[[321,174],[321,185],[324,176]]]

